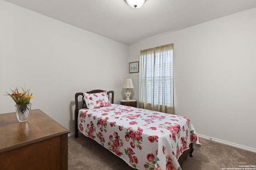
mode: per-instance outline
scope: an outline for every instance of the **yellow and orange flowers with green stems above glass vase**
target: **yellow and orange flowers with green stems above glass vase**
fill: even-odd
[[[26,88],[25,88],[25,90],[22,88],[22,90],[23,90],[23,92],[20,93],[18,91],[18,87],[17,87],[15,90],[11,89],[12,94],[6,92],[7,93],[6,95],[11,96],[11,98],[14,100],[14,102],[18,105],[30,104],[30,99],[33,98],[32,93],[29,94],[30,90],[26,90]]]

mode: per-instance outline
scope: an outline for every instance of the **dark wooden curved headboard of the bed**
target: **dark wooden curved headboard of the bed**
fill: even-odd
[[[100,92],[105,92],[106,90],[92,90],[86,93],[100,93]],[[110,95],[111,94],[111,95]],[[83,100],[83,104],[82,107],[79,108],[79,104],[78,104],[78,97],[82,96],[82,100]],[[111,96],[111,103],[114,103],[114,91],[108,91],[108,99]],[[79,109],[83,109],[86,108],[86,104],[85,104],[85,99],[84,99],[84,93],[79,92],[75,94],[75,103],[76,103],[76,109],[75,109],[75,138],[78,137],[78,110]]]

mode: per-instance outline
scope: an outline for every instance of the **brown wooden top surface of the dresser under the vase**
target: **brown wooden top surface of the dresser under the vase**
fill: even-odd
[[[68,133],[40,109],[31,110],[25,122],[18,121],[16,112],[0,114],[0,153]]]

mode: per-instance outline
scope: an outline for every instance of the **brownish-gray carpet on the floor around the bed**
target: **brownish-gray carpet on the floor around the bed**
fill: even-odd
[[[200,138],[202,147],[188,156],[182,170],[224,170],[240,165],[256,165],[256,152],[238,149]],[[223,169],[222,169],[223,168]],[[68,138],[68,170],[134,170],[124,160],[79,134]]]

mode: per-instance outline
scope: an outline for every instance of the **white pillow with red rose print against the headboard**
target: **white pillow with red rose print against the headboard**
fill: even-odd
[[[97,107],[110,106],[111,102],[108,99],[108,92],[100,93],[84,93],[85,103],[88,109]]]

